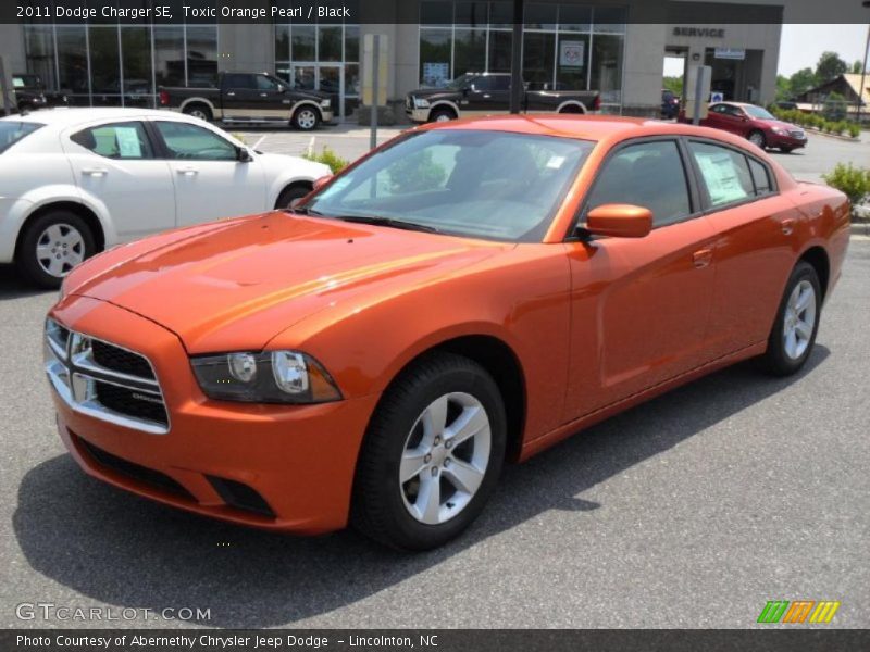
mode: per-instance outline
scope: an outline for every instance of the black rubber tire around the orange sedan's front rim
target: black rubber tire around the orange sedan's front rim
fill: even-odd
[[[412,516],[406,506],[399,465],[422,413],[450,392],[470,394],[483,406],[489,418],[489,457],[483,479],[464,507],[444,523],[425,524]],[[447,423],[451,423],[449,417]],[[372,417],[357,464],[352,525],[368,537],[399,550],[428,550],[453,539],[477,517],[498,481],[506,432],[504,401],[483,367],[452,353],[434,353],[421,359],[390,385]],[[458,450],[459,447],[453,452]],[[428,471],[425,467],[422,473]],[[440,475],[437,481],[440,486]],[[449,496],[444,504],[452,507]]]

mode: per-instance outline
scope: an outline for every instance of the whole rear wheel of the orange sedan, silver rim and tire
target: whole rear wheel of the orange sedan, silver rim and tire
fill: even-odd
[[[816,343],[821,316],[821,285],[816,269],[799,262],[780,303],[763,356],[767,369],[778,376],[794,374],[806,364]]]

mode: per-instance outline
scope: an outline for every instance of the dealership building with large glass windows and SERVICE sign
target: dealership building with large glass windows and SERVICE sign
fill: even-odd
[[[539,89],[599,90],[607,112],[652,115],[670,57],[686,71],[710,65],[711,88],[724,99],[767,103],[775,92],[781,24],[815,2],[525,0],[523,76]],[[171,4],[177,15],[184,3],[140,2]],[[294,3],[245,3],[257,4]],[[510,71],[510,1],[341,4],[353,22],[0,24],[0,57],[8,75],[38,74],[77,105],[153,105],[160,86],[209,86],[222,71],[268,71],[333,95],[343,118],[360,104],[361,43],[369,33],[387,37],[387,97],[399,115],[414,88],[465,72]]]

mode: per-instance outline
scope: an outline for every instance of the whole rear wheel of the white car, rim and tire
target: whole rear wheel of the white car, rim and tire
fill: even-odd
[[[67,211],[53,211],[29,225],[16,261],[33,283],[57,288],[73,267],[94,253],[94,236],[85,221]]]

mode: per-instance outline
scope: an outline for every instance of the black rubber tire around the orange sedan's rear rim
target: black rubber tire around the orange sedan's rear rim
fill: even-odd
[[[792,356],[787,352],[785,339],[786,319],[790,316],[788,301],[795,288],[806,281],[811,287],[815,298],[815,315],[812,319],[812,330],[808,339],[806,348],[803,353],[797,356]],[[773,327],[770,330],[768,338],[768,350],[761,356],[760,362],[765,371],[774,376],[788,376],[795,374],[806,364],[812,353],[812,347],[816,343],[816,334],[819,330],[819,319],[821,318],[822,309],[822,290],[819,283],[819,275],[812,265],[805,261],[800,261],[795,265],[792,275],[788,277],[788,283],[785,284],[785,292],[783,292],[780,308],[776,311],[776,318],[773,322]],[[803,313],[806,314],[806,313]]]

